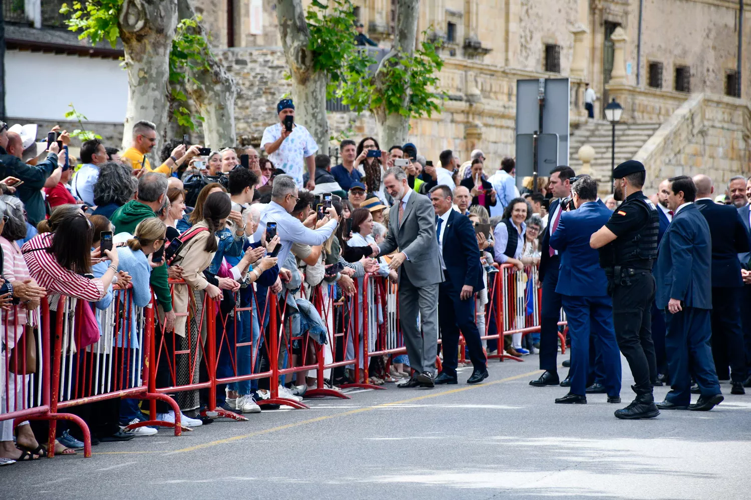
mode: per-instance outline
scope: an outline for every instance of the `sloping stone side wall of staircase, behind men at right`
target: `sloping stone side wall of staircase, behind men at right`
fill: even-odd
[[[635,155],[647,186],[675,175],[709,175],[716,188],[751,173],[751,107],[724,96],[694,94]]]

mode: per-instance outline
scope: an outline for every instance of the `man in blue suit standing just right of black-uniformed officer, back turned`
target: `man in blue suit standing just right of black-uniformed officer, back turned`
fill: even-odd
[[[659,409],[707,411],[722,394],[712,360],[712,237],[709,224],[694,203],[696,187],[686,175],[670,179],[668,207],[673,222],[662,237],[655,264],[657,307],[667,310],[665,349],[671,391]],[[701,396],[691,403],[691,376]]]

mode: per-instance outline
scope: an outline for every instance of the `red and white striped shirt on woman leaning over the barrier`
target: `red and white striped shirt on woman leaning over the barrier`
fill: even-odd
[[[26,241],[21,248],[29,272],[39,286],[44,286],[48,294],[59,293],[86,301],[98,301],[104,297],[101,280],[89,280],[59,265],[55,256],[46,250],[51,246],[52,234],[45,232]]]

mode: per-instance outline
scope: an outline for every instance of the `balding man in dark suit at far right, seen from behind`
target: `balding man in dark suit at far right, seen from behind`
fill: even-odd
[[[735,207],[718,205],[712,199],[712,179],[694,177],[696,206],[707,219],[712,235],[712,355],[717,373],[731,368],[731,394],[746,394],[746,356],[743,352],[743,329],[740,327],[740,304],[743,301],[743,278],[737,254],[749,251],[749,234]]]

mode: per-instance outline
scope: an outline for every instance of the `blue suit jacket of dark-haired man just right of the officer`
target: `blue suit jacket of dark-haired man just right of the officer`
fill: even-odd
[[[653,269],[659,309],[675,298],[686,307],[712,308],[712,236],[695,203],[684,206],[665,231]]]

